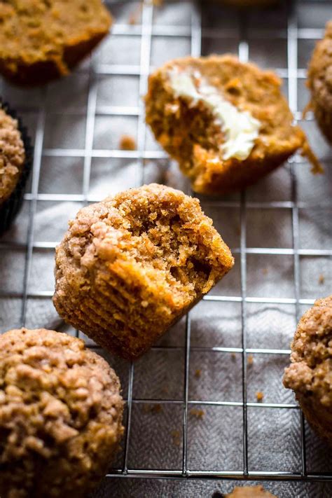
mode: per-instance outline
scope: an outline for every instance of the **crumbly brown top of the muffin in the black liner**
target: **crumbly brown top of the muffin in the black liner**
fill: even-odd
[[[18,184],[25,162],[25,148],[18,120],[0,109],[0,205]]]

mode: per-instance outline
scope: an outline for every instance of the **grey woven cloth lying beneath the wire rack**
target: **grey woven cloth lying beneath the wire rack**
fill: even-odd
[[[22,324],[25,244],[31,214],[34,214],[34,247],[27,286],[25,325],[30,328],[56,328],[75,334],[74,330],[62,324],[50,299],[54,287],[53,247],[61,240],[68,219],[75,216],[85,200],[101,200],[124,188],[138,186],[141,181],[158,181],[189,192],[188,182],[179,173],[177,165],[164,158],[148,130],[144,149],[148,152],[147,156],[155,154],[159,158],[144,160],[143,170],[135,153],[127,154],[127,158],[120,155],[107,157],[115,155],[113,151],[118,149],[122,134],[136,137],[141,123],[141,118],[137,116],[141,106],[140,2],[118,1],[111,4],[111,9],[116,15],[114,34],[95,53],[92,62],[95,71],[90,76],[88,61],[68,78],[48,85],[46,90],[20,90],[1,83],[2,95],[12,106],[17,106],[30,133],[34,136],[35,131],[39,130],[39,138],[43,139],[38,200],[36,203],[29,199],[25,201],[15,225],[0,240],[1,331]],[[317,29],[321,34],[319,30],[323,29],[324,22],[332,14],[327,3],[313,1],[300,2],[297,11],[300,29]],[[151,38],[151,67],[191,52],[192,12],[192,1],[165,2],[162,7],[154,8],[153,26],[156,31],[159,29],[159,34]],[[138,24],[127,26],[132,15]],[[203,54],[237,53],[240,32],[235,11],[203,2],[202,26]],[[160,34],[162,27],[165,36]],[[168,30],[174,27],[178,27],[181,36],[167,36]],[[262,41],[258,33],[262,34],[262,29],[266,27],[270,32],[268,36],[265,32]],[[249,57],[263,67],[279,69],[284,76],[287,67],[286,28],[284,8],[264,13],[252,11],[247,15]],[[131,30],[132,35],[124,34],[125,29]],[[223,29],[228,29],[229,36],[219,36]],[[282,31],[282,37],[275,37],[276,30]],[[298,67],[303,75],[313,46],[313,39],[298,41]],[[304,78],[298,80],[298,117],[308,98],[304,83]],[[89,88],[93,89],[90,101]],[[286,78],[283,88],[286,93]],[[92,146],[97,152],[92,157],[89,180],[84,149],[86,139],[89,141],[92,138],[85,137],[85,132],[88,102],[93,102],[93,95],[96,97],[96,113],[92,123]],[[44,133],[40,109],[45,110]],[[293,166],[298,184],[299,249],[331,250],[331,148],[324,142],[313,120],[304,122],[303,127],[309,134],[314,151],[326,165],[326,174],[312,177],[310,166],[300,158]],[[88,130],[92,133],[89,126]],[[37,166],[38,162],[37,159]],[[88,198],[83,198],[83,194]],[[292,249],[291,205],[284,204],[292,200],[290,165],[284,165],[249,188],[246,197],[249,203],[246,210],[247,247]],[[237,263],[211,294],[240,298],[240,195],[228,196],[223,201],[228,201],[228,204],[220,207],[216,201],[202,198],[202,207],[234,250]],[[258,202],[277,204],[273,209],[263,205],[258,208]],[[247,296],[295,298],[293,271],[292,254],[247,254]],[[299,297],[308,300],[331,293],[331,256],[300,256],[299,290]],[[300,312],[308,306],[302,305]],[[192,310],[190,316],[192,349],[188,396],[190,401],[198,403],[191,403],[188,410],[188,469],[242,471],[242,407],[200,404],[200,401],[242,402],[241,353],[211,349],[242,346],[241,303],[205,300]],[[294,304],[247,303],[245,318],[247,347],[289,348],[296,327]],[[185,336],[186,320],[182,319],[160,340],[158,348],[148,352],[134,365],[134,403],[127,461],[130,469],[181,470]],[[90,340],[88,344],[93,346]],[[162,349],[162,346],[167,348]],[[198,347],[205,350],[195,349]],[[127,362],[96,350],[116,369],[123,395],[127,397]],[[256,402],[256,392],[261,391],[263,402],[294,403],[293,394],[282,387],[282,374],[288,362],[287,355],[254,354],[253,362],[248,366],[248,401]],[[156,403],[137,402],[151,399]],[[170,399],[174,403],[167,403]],[[307,471],[331,472],[331,450],[308,427],[306,436]],[[249,407],[248,449],[250,471],[299,472],[299,411]],[[120,469],[122,465],[123,452],[113,466]],[[108,478],[92,496],[210,497],[217,490],[229,492],[234,485],[232,481]],[[265,483],[265,487],[280,498],[332,495],[332,485],[328,483]]]

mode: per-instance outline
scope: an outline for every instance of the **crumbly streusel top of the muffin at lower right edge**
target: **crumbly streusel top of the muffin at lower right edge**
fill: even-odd
[[[284,385],[332,408],[332,296],[317,300],[298,323]]]

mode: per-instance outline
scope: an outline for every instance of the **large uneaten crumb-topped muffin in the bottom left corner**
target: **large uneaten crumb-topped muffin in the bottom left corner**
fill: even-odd
[[[83,340],[39,330],[0,336],[1,498],[83,497],[123,434],[120,383]]]

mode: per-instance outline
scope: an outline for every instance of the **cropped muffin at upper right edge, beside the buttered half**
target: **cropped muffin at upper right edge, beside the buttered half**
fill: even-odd
[[[311,92],[308,109],[314,111],[321,132],[332,143],[332,21],[327,23],[324,39],[312,54],[307,86]]]

